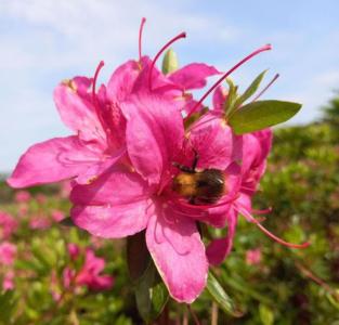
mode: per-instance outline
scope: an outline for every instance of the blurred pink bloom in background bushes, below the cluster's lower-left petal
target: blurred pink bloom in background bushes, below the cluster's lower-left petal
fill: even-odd
[[[68,246],[74,253],[76,246]],[[74,256],[74,258],[76,258]],[[63,272],[63,282],[66,288],[70,286],[87,286],[91,290],[108,290],[114,285],[114,278],[110,275],[101,275],[105,269],[105,260],[95,256],[90,248],[86,250],[84,263],[80,271],[66,268]]]

